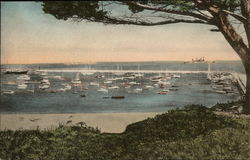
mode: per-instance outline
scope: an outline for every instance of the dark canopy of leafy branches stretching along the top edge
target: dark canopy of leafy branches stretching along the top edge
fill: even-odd
[[[110,6],[117,4],[116,7],[126,6],[131,12],[121,13],[123,17],[112,15]],[[212,24],[212,17],[208,13],[208,7],[215,7],[224,10],[224,12],[246,20],[243,16],[237,15],[234,12],[239,11],[240,0],[210,0],[200,2],[199,0],[156,0],[156,1],[45,1],[43,2],[43,10],[45,13],[55,16],[57,19],[73,19],[76,21],[88,20],[93,22],[103,22],[112,24],[137,24],[137,25],[159,25],[169,23],[207,23]],[[212,8],[211,8],[212,9]],[[148,19],[142,16],[137,16],[137,13],[145,10],[155,11],[151,15],[158,15],[157,12],[166,13],[161,15],[162,19],[159,23],[150,23]],[[171,15],[169,15],[171,14]],[[195,18],[191,21],[176,18],[176,16],[188,16]],[[145,15],[144,15],[145,16]]]

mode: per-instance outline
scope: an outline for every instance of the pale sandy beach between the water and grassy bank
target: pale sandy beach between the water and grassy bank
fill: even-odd
[[[120,113],[0,113],[0,131],[55,129],[60,124],[99,128],[101,132],[121,133],[128,124],[154,117],[164,112],[120,112]]]

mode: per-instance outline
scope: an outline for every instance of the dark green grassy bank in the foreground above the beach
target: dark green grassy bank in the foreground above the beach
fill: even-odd
[[[224,108],[225,106],[223,106]],[[81,126],[2,131],[0,157],[29,160],[248,159],[250,119],[188,106],[133,123],[120,134]]]

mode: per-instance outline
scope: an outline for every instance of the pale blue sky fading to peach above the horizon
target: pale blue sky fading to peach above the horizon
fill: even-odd
[[[1,2],[1,64],[239,60],[212,26],[57,20],[40,3]]]

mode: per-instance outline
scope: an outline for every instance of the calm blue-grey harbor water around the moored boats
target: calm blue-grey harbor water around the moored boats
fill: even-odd
[[[139,67],[138,67],[139,66]],[[124,70],[207,70],[207,64],[183,64],[182,62],[158,62],[158,63],[98,63],[95,65],[65,65],[65,64],[40,64],[40,65],[8,65],[2,68],[29,68],[29,69],[124,69]],[[238,61],[218,62],[211,65],[211,70],[244,72],[243,66]],[[240,95],[235,86],[235,94],[218,94],[213,91],[210,82],[206,79],[206,74],[181,74],[180,78],[172,78],[167,89],[177,86],[178,91],[170,91],[166,95],[159,95],[159,87],[152,90],[143,90],[141,93],[129,93],[135,88],[145,85],[154,85],[149,80],[150,77],[158,74],[145,74],[143,78],[135,80],[117,80],[118,90],[109,90],[108,93],[98,92],[97,86],[89,85],[90,82],[103,83],[105,78],[121,77],[112,73],[102,74],[105,78],[96,78],[101,73],[93,75],[82,75],[80,79],[88,87],[84,92],[74,93],[79,88],[72,88],[67,92],[49,93],[63,87],[64,83],[70,84],[76,73],[48,73],[50,88],[40,90],[40,75],[30,75],[31,81],[37,82],[28,84],[28,89],[34,89],[34,93],[27,93],[25,90],[18,90],[16,84],[6,84],[15,82],[19,75],[1,75],[1,90],[14,90],[13,95],[1,95],[0,111],[4,113],[92,113],[92,112],[162,112],[169,109],[183,107],[188,104],[202,104],[213,106],[216,103],[236,101]],[[64,79],[56,79],[54,76],[61,76]],[[130,89],[122,87],[120,83],[136,81],[141,85]],[[85,94],[86,97],[80,97]],[[105,96],[122,95],[124,99],[103,99]]]

